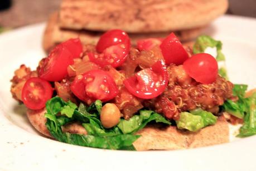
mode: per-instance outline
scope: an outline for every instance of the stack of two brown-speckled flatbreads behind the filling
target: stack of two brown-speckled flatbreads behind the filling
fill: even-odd
[[[95,44],[115,28],[127,32],[133,44],[170,32],[182,42],[191,41],[227,8],[228,0],[63,0],[60,11],[49,18],[43,46],[50,51],[74,37]]]

